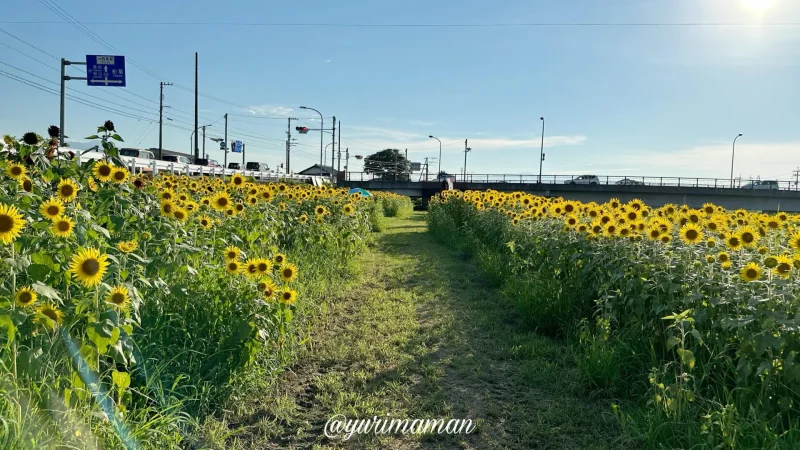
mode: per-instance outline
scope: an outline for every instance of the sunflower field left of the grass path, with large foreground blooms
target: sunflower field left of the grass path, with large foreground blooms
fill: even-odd
[[[55,128],[55,130],[52,130]],[[279,370],[365,247],[372,198],[0,153],[0,448],[188,448],[246,368]]]

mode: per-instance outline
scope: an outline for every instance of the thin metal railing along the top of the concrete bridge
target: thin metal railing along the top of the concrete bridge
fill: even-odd
[[[800,190],[798,183],[788,180],[760,180],[758,178],[701,178],[701,177],[654,177],[654,176],[587,176],[587,175],[515,175],[515,174],[472,174],[450,175],[454,183],[518,183],[518,184],[568,184],[568,185],[607,185],[607,186],[660,186],[660,187],[707,187],[707,188],[736,188],[758,190]],[[376,177],[365,172],[347,172],[348,181],[386,181],[386,182],[419,182],[441,181],[430,176],[427,180],[424,174],[393,175]]]

